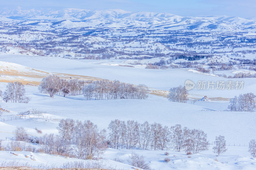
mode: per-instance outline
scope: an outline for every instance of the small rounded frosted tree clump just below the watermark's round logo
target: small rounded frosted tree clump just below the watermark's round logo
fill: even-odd
[[[186,90],[185,87],[179,86],[179,87],[171,88],[169,90],[169,95],[167,95],[167,98],[169,101],[172,101],[172,102],[186,103],[188,100],[187,96],[188,96],[188,90]]]

